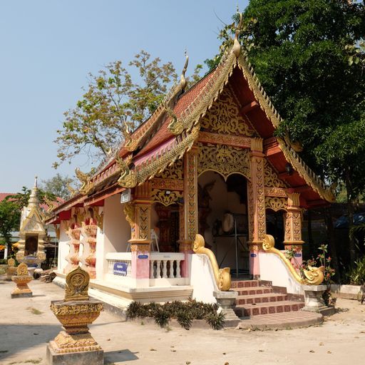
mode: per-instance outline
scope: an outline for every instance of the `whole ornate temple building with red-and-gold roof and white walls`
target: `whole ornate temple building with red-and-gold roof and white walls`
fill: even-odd
[[[59,281],[81,264],[95,297],[214,301],[212,269],[192,251],[199,233],[233,278],[294,290],[262,249],[264,235],[294,248],[300,263],[303,210],[334,196],[300,158],[299,144],[274,136],[282,119],[237,36],[217,68],[188,90],[186,66],[96,174],[76,170],[80,190],[47,221],[60,225]]]

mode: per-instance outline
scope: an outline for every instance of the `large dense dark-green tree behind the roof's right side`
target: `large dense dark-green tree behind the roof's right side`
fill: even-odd
[[[364,191],[365,83],[361,62],[350,62],[349,45],[364,39],[364,4],[251,0],[243,18],[240,41],[284,118],[277,135],[300,141],[302,157],[328,183],[346,185],[351,215]],[[222,29],[220,54],[208,66],[230,46],[232,31],[232,24]],[[350,252],[353,260],[353,241]]]

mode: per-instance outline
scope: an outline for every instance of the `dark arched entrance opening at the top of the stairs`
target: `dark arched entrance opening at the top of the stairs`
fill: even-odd
[[[198,177],[198,230],[220,267],[232,275],[249,272],[247,180],[240,173],[226,179],[212,170]]]

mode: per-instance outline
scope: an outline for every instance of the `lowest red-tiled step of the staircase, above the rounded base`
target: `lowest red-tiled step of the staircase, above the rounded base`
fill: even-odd
[[[302,307],[304,307],[304,303],[302,302],[284,300],[283,302],[245,304],[245,306],[238,305],[235,307],[235,313],[238,317],[251,317],[261,314],[294,312],[299,311]]]

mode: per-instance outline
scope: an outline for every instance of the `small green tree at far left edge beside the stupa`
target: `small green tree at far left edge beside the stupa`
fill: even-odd
[[[16,202],[4,199],[0,202],[0,235],[11,255],[11,232],[19,230],[20,210]]]

